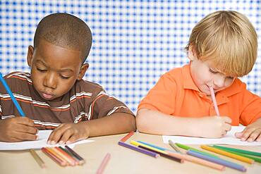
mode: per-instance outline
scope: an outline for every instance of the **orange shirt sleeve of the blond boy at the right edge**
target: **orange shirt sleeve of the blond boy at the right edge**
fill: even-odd
[[[243,111],[240,117],[240,123],[249,125],[255,120],[261,118],[261,98],[247,89],[243,93]]]

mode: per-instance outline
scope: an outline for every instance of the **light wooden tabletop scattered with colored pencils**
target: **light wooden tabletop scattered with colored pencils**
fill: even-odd
[[[158,159],[154,159],[151,156],[141,154],[137,151],[121,147],[117,144],[119,139],[124,135],[111,135],[104,137],[90,138],[95,142],[87,144],[78,144],[74,147],[74,150],[83,156],[86,163],[83,166],[67,166],[61,167],[46,156],[42,151],[37,150],[37,154],[46,163],[47,168],[40,168],[35,159],[32,158],[29,151],[0,151],[0,173],[62,173],[62,174],[78,174],[78,173],[96,173],[99,164],[102,162],[104,156],[109,152],[111,159],[104,170],[104,173],[242,173],[238,170],[226,168],[224,171],[215,170],[205,166],[200,166],[195,163],[185,161],[184,163],[177,163],[160,156]],[[164,144],[162,136],[158,135],[146,135],[136,132],[135,135],[130,137],[132,140],[140,140],[149,142],[160,147],[166,147],[171,149],[169,144]],[[127,143],[130,141],[127,140]],[[198,145],[193,145],[200,149]],[[232,146],[230,146],[232,147]],[[248,149],[261,152],[261,147],[241,147],[242,149]],[[230,161],[244,165],[248,170],[246,173],[261,173],[261,163],[254,163],[250,165],[234,159],[223,157]]]

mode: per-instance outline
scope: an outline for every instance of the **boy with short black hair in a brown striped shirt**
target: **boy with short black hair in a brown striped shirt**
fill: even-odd
[[[89,27],[73,15],[54,13],[41,20],[34,46],[28,47],[31,73],[5,76],[26,117],[0,86],[0,141],[35,140],[38,130],[54,129],[49,144],[70,144],[135,130],[135,117],[121,101],[82,80],[91,44]]]

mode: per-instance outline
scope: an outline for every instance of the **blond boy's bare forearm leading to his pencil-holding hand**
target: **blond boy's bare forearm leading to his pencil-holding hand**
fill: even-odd
[[[146,108],[140,109],[136,116],[137,129],[154,135],[200,136],[200,118],[181,118]]]

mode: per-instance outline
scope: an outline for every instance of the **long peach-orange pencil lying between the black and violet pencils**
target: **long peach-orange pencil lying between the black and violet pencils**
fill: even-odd
[[[214,169],[217,169],[217,170],[225,170],[225,166],[222,166],[222,165],[217,164],[217,163],[212,163],[210,161],[206,161],[204,159],[198,159],[194,156],[189,156],[189,155],[185,155],[185,154],[174,153],[174,152],[171,152],[171,151],[167,151],[167,152],[168,152],[169,155],[175,156],[176,158],[184,159],[186,161],[190,161],[190,162],[193,162],[193,163],[198,163],[198,164],[201,164],[202,166],[207,166],[207,167],[214,168]]]

